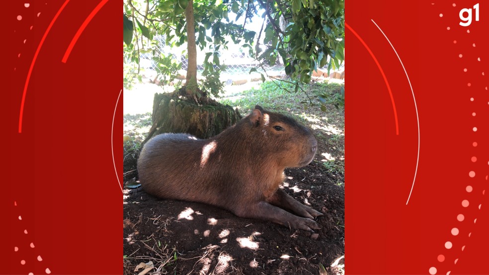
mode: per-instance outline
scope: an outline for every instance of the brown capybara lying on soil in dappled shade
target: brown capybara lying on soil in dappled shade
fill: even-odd
[[[313,218],[322,213],[299,203],[279,185],[285,168],[313,160],[317,145],[306,127],[257,105],[213,138],[151,138],[138,159],[139,179],[147,193],[163,199],[210,204],[240,217],[313,231],[321,228]]]

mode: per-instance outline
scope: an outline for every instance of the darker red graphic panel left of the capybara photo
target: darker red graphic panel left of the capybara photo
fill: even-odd
[[[1,274],[46,274],[46,268],[51,274],[122,274],[122,192],[111,149],[122,89],[122,2],[109,0],[61,62],[100,1],[70,0],[52,25],[32,70],[21,134],[26,75],[65,0],[5,1]],[[122,96],[114,133],[122,180]]]

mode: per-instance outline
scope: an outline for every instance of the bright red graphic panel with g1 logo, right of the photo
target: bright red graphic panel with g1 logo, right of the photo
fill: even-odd
[[[396,135],[382,74],[347,29],[346,274],[429,274],[430,268],[436,268],[436,274],[489,274],[489,194],[483,195],[489,174],[489,92],[487,75],[482,74],[485,69],[489,73],[485,2],[480,3],[480,21],[473,16],[469,27],[459,25],[460,9],[476,3],[346,3],[346,24],[385,72],[399,118]],[[417,103],[419,165],[407,205],[416,168],[416,110],[401,63],[371,19],[403,61]],[[469,201],[468,207],[462,206],[463,200]],[[458,221],[458,214],[465,219]],[[456,236],[451,233],[454,227],[459,230]],[[445,248],[447,241],[451,249]]]

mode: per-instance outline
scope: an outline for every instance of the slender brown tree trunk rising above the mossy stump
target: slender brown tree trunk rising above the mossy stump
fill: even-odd
[[[188,1],[185,9],[185,22],[187,23],[187,77],[185,82],[186,93],[189,97],[197,96],[197,46],[195,44],[195,19],[193,15],[193,0]]]

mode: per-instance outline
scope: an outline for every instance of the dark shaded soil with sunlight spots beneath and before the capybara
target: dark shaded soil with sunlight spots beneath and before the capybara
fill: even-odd
[[[344,255],[344,185],[317,160],[285,174],[284,190],[324,213],[319,235],[125,189],[124,274],[149,261],[148,274],[344,274],[343,260],[331,267]]]

